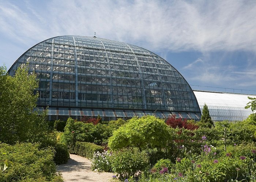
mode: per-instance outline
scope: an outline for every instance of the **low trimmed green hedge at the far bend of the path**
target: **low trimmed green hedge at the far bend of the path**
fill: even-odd
[[[103,147],[89,142],[76,142],[75,154],[86,158],[93,158],[94,152],[103,152]]]

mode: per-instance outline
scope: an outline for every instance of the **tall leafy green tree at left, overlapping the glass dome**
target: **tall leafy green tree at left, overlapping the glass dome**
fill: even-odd
[[[33,111],[38,98],[35,75],[18,68],[12,77],[6,67],[0,67],[0,86],[0,141],[13,144],[44,138],[47,113]]]

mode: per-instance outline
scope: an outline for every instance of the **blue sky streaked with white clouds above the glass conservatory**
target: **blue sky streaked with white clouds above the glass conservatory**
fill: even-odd
[[[0,0],[0,66],[50,37],[94,32],[146,48],[189,84],[208,86],[192,88],[256,90],[255,0]]]

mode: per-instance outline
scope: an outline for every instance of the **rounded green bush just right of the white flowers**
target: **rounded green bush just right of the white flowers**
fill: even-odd
[[[138,148],[134,147],[114,151],[111,156],[112,170],[124,179],[144,170],[148,165],[147,153],[145,151],[140,152]]]

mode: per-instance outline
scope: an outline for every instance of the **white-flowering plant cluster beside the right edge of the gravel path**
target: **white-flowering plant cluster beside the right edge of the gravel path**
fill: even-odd
[[[108,172],[111,170],[110,165],[110,156],[111,153],[104,150],[104,152],[100,153],[97,151],[97,153],[93,154],[93,159],[91,159],[91,168],[94,171],[105,171]]]

